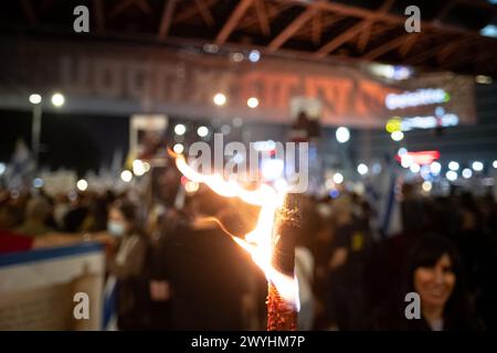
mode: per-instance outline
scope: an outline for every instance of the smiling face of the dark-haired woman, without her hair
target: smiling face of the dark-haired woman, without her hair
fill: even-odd
[[[414,289],[420,293],[422,306],[444,307],[456,282],[452,260],[441,256],[433,267],[419,267],[414,271]]]

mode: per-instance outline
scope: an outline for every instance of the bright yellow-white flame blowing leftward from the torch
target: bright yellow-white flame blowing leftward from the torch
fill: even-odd
[[[266,279],[276,287],[279,296],[298,308],[298,288],[296,280],[278,271],[272,264],[275,216],[277,208],[284,204],[286,192],[284,190],[276,191],[267,184],[261,184],[256,190],[246,190],[233,180],[225,181],[219,174],[201,174],[187,163],[182,154],[171,154],[176,157],[176,165],[179,171],[189,180],[204,183],[221,196],[240,197],[248,204],[261,206],[257,224],[252,232],[247,233],[244,238],[233,235],[230,236],[252,256],[252,259],[264,272]]]

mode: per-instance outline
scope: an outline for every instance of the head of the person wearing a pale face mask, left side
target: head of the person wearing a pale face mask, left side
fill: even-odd
[[[107,231],[115,236],[136,232],[138,226],[136,206],[128,202],[114,203],[108,212]]]

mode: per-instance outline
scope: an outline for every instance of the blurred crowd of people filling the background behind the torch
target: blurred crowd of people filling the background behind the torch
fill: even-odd
[[[374,225],[376,205],[363,195],[292,196],[286,236],[296,246],[299,329],[496,328],[495,199],[416,190],[403,185],[402,231],[391,235]],[[257,214],[202,186],[181,206],[133,190],[68,197],[3,189],[0,250],[104,243],[107,274],[118,284],[120,330],[264,330],[266,279],[229,236],[248,233]],[[419,319],[406,317],[413,292],[421,298]]]

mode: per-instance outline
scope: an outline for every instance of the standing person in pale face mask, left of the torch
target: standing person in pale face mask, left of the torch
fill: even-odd
[[[117,325],[119,330],[148,329],[148,243],[139,231],[135,205],[115,203],[108,213],[107,232],[118,240],[117,252],[107,263],[109,274],[117,279]]]

